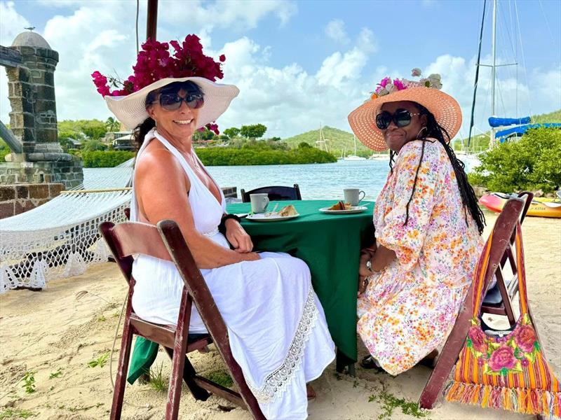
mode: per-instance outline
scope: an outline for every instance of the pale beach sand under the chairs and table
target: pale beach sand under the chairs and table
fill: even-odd
[[[495,216],[487,217],[489,225]],[[489,232],[489,228],[487,228]],[[561,378],[561,220],[527,218],[523,225],[529,302],[553,371]],[[85,291],[87,293],[80,293]],[[109,362],[88,367],[111,350],[126,282],[110,262],[86,274],[48,283],[41,292],[11,290],[0,296],[0,418],[106,419],[111,409]],[[121,329],[119,329],[120,337]],[[359,357],[366,351],[359,340]],[[120,339],[116,344],[119,349]],[[192,356],[191,356],[192,355]],[[118,353],[113,358],[116,371]],[[209,374],[224,369],[218,353],[190,353],[196,369]],[[170,360],[160,351],[155,365],[167,382]],[[34,372],[33,393],[22,377]],[[60,372],[60,373],[57,373]],[[430,370],[417,366],[391,377],[363,370],[336,374],[334,364],[313,382],[318,397],[309,404],[310,419],[377,419],[388,414],[380,395],[417,402]],[[50,376],[55,376],[50,378]],[[167,384],[166,384],[167,386]],[[374,396],[372,400],[371,396]],[[127,386],[123,419],[163,419],[166,393],[149,384]],[[183,386],[180,419],[250,419],[248,412],[211,396],[197,402]],[[12,413],[13,417],[8,416]],[[18,416],[20,414],[20,416]],[[2,417],[4,415],[4,417]],[[391,419],[412,419],[400,407]],[[494,409],[440,402],[430,419],[533,419]]]

